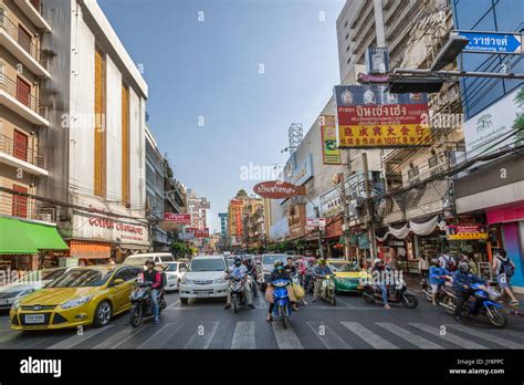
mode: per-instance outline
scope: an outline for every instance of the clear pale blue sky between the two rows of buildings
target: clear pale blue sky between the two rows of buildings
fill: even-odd
[[[147,124],[175,178],[211,202],[212,231],[261,181],[242,167],[283,166],[290,125],[305,135],[333,94],[344,2],[98,0],[148,83]]]

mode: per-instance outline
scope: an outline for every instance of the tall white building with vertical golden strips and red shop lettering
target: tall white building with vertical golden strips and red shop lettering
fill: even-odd
[[[147,251],[147,84],[95,0],[46,0],[52,33],[40,136],[40,194],[66,202],[59,225],[71,257],[120,260]]]

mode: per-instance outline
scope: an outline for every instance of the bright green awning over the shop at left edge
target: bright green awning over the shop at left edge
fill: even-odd
[[[0,254],[34,254],[67,250],[56,227],[0,217]]]

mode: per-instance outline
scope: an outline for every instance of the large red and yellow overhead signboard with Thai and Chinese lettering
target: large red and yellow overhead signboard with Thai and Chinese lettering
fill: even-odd
[[[338,147],[429,146],[428,96],[390,94],[386,85],[337,85]]]

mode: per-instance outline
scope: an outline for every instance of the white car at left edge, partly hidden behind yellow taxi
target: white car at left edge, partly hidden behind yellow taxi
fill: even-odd
[[[11,309],[21,298],[40,290],[55,278],[62,275],[67,268],[43,269],[30,272],[13,283],[0,287],[0,310]]]

